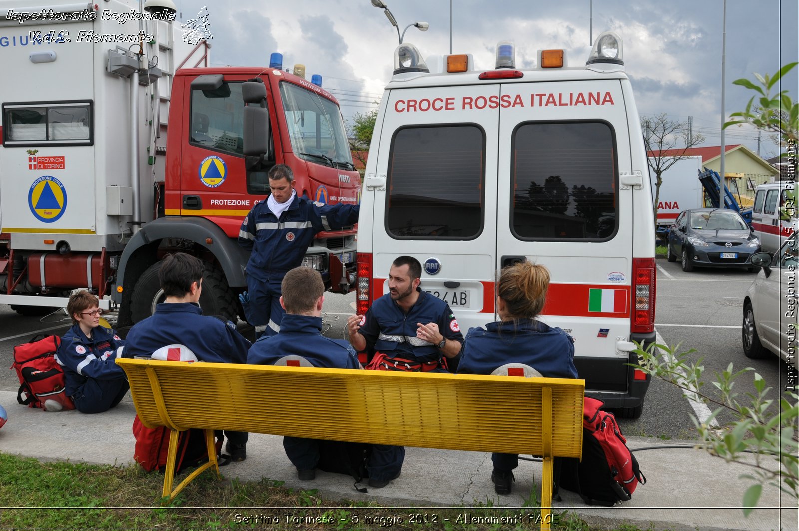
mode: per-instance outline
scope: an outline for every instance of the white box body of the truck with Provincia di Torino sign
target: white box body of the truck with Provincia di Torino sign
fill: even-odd
[[[153,219],[173,74],[193,53],[172,22],[136,0],[2,2],[0,246],[17,252],[0,303],[66,305]]]

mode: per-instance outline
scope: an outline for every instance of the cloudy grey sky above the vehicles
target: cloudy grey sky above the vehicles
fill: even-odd
[[[182,22],[208,6],[214,66],[268,66],[269,54],[284,55],[284,67],[306,66],[336,95],[344,119],[374,108],[392,75],[399,43],[383,10],[370,0],[174,0]],[[407,30],[428,58],[450,50],[473,54],[478,69],[493,69],[496,43],[512,40],[517,66],[531,66],[536,50],[562,48],[569,66],[583,66],[596,38],[613,30],[624,42],[626,72],[642,115],[666,113],[718,146],[721,122],[721,34],[723,0],[385,0],[400,32],[429,22],[422,33]],[[593,23],[590,5],[593,3]],[[732,82],[773,74],[797,61],[796,0],[727,0],[725,114],[743,110],[752,94]],[[797,98],[794,69],[782,90]],[[757,150],[757,132],[725,130],[725,144]],[[761,137],[760,154],[778,154]]]

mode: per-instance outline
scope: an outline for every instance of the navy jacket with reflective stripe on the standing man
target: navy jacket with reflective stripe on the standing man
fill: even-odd
[[[358,205],[324,205],[295,196],[292,206],[280,218],[267,202],[252,207],[239,230],[239,245],[252,250],[247,274],[258,280],[280,280],[289,270],[302,265],[302,258],[322,230],[341,229],[358,222]]]

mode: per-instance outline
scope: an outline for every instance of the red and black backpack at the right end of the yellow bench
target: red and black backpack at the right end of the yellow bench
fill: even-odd
[[[579,493],[589,505],[610,507],[632,497],[646,477],[627,448],[616,417],[600,409],[602,401],[585,397],[582,411],[582,460],[562,460],[558,485]]]

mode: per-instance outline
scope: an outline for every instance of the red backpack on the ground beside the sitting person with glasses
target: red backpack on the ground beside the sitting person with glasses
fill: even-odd
[[[16,369],[19,377],[17,401],[45,410],[75,409],[72,398],[66,396],[64,369],[55,356],[61,346],[61,337],[39,337],[44,336],[34,336],[27,343],[14,347],[11,369]]]

